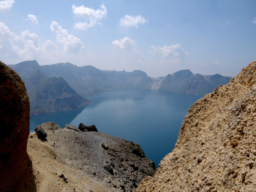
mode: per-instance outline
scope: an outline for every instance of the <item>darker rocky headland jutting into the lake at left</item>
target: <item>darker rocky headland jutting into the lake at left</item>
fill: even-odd
[[[41,79],[41,78],[40,78]],[[88,105],[62,77],[44,78],[29,95],[30,115],[41,115],[55,111],[78,110]]]

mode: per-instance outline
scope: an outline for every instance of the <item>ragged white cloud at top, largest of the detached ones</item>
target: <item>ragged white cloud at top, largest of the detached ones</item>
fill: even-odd
[[[93,8],[84,7],[84,5],[77,7],[73,4],[72,9],[75,17],[77,19],[84,20],[83,22],[79,21],[75,23],[74,28],[86,30],[87,28],[91,28],[99,23],[99,20],[107,16],[107,8],[104,3],[100,5],[100,7],[101,9],[95,10]]]

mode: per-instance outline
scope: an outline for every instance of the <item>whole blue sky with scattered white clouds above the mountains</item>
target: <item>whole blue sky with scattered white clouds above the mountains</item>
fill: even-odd
[[[2,0],[0,60],[236,76],[256,60],[256,1]]]

